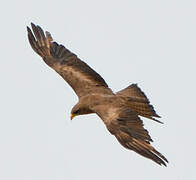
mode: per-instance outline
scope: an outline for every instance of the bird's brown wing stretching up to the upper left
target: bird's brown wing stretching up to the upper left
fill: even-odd
[[[49,32],[44,34],[41,27],[33,23],[31,27],[33,33],[29,27],[27,31],[33,50],[67,81],[79,98],[90,93],[111,93],[108,85],[98,73],[63,45],[53,42]]]

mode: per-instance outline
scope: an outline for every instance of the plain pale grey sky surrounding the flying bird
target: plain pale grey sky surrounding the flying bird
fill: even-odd
[[[0,7],[0,179],[196,178],[196,1],[4,1]],[[138,83],[164,125],[145,119],[161,167],[124,149],[35,54],[26,26],[51,32],[118,91]]]

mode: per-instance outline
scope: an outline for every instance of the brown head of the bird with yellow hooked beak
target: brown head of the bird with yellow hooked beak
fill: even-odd
[[[84,106],[81,103],[76,104],[72,110],[71,110],[71,120],[78,115],[83,115],[83,114],[90,114],[93,113],[92,110],[90,110],[87,106]]]

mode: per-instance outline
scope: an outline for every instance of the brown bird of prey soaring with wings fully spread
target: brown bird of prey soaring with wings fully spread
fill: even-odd
[[[72,108],[71,119],[78,115],[96,113],[109,132],[122,146],[151,159],[159,165],[168,160],[151,146],[152,139],[140,116],[160,122],[146,95],[137,84],[114,93],[105,80],[77,55],[53,41],[49,32],[31,23],[27,27],[33,50],[54,69],[75,91],[78,103]]]

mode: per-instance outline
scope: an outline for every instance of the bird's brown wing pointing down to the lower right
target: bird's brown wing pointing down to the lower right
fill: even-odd
[[[107,109],[105,113],[104,109]],[[150,144],[152,139],[137,113],[126,107],[99,107],[95,108],[103,119],[108,130],[125,148],[153,160],[159,165],[166,166],[167,159]]]

